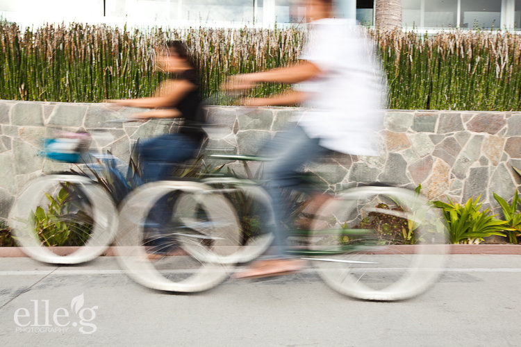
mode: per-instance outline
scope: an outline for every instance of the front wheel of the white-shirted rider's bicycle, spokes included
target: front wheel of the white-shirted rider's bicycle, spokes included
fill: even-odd
[[[154,231],[151,214],[158,208],[158,201],[172,192],[179,192],[177,208],[168,210],[168,221]],[[183,207],[183,202],[187,206]],[[119,220],[118,260],[131,278],[151,289],[196,292],[215,287],[230,270],[218,260],[240,246],[233,208],[201,183],[160,181],[143,185],[124,200]],[[204,261],[209,254],[217,261]]]

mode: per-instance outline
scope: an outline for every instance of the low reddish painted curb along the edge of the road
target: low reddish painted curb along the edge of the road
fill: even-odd
[[[408,253],[407,248],[411,246],[394,246],[405,248],[403,253]],[[58,255],[67,255],[77,251],[79,246],[51,247]],[[521,255],[521,244],[452,244],[451,254],[496,254],[496,255]],[[115,256],[114,247],[110,246],[101,254],[105,257]],[[28,257],[22,247],[0,247],[0,257]]]

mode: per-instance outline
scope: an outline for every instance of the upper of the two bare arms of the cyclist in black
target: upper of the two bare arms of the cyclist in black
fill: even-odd
[[[176,105],[186,96],[186,94],[197,88],[195,84],[187,80],[172,81],[165,83],[162,87],[166,89],[166,92],[162,93],[163,96],[130,100],[110,100],[108,102],[134,108],[164,108]]]

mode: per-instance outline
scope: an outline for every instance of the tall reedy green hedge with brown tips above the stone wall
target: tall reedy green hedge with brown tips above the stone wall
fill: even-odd
[[[370,31],[379,45],[397,109],[521,110],[521,35],[497,32],[416,35]],[[108,26],[44,26],[21,33],[0,23],[0,98],[99,102],[150,95],[166,76],[154,55],[183,38],[197,56],[205,96],[226,75],[295,62],[304,33],[290,29],[128,31]],[[281,85],[263,85],[264,96]]]

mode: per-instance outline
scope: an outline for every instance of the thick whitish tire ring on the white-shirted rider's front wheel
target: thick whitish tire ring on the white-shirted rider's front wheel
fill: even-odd
[[[212,244],[205,245],[192,235],[183,235],[183,232],[164,234],[165,239],[176,234],[176,242],[185,253],[174,252],[156,262],[150,259],[150,255],[154,255],[150,253],[153,247],[147,246],[144,241],[147,239],[144,224],[152,206],[165,194],[175,191],[190,194],[200,203],[210,225],[204,232],[208,233]],[[226,257],[235,252],[239,246],[239,235],[233,208],[225,198],[213,193],[208,185],[186,181],[147,183],[131,192],[121,205],[116,237],[117,259],[128,275],[145,287],[179,293],[205,291],[226,279],[231,269],[231,266],[219,261],[204,261],[206,255],[215,253]],[[211,251],[208,251],[209,247]]]

